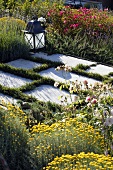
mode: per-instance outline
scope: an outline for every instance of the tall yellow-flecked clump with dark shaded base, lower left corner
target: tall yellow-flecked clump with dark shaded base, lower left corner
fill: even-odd
[[[32,170],[26,117],[17,106],[3,106],[0,107],[0,153],[11,170]]]

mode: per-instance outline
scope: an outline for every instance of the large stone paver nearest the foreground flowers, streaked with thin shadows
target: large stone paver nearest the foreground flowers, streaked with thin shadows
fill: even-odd
[[[26,92],[25,94],[36,97],[40,101],[50,101],[57,104],[62,104],[60,96],[66,96],[68,98],[68,103],[71,103],[71,98],[68,92],[59,90],[58,88],[50,85],[41,85],[32,91]],[[74,100],[74,96],[75,95],[72,95],[72,100]]]

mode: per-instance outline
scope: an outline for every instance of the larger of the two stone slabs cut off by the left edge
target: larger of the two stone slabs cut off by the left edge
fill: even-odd
[[[26,83],[31,83],[32,80],[27,78],[22,78],[14,74],[5,73],[0,71],[0,84],[2,86],[16,88],[25,85]]]

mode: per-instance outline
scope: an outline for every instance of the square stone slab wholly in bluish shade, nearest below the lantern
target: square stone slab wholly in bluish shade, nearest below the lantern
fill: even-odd
[[[36,63],[36,62],[25,60],[25,59],[14,60],[14,61],[8,62],[7,64],[13,67],[22,68],[22,69],[32,69],[32,68],[39,67],[42,65],[40,63]]]

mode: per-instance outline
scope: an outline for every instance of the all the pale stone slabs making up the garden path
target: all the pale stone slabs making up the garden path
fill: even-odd
[[[87,72],[98,73],[101,75],[108,75],[110,72],[113,72],[113,67],[108,67],[108,66],[104,66],[100,64],[92,66],[92,64],[96,64],[96,63],[87,61],[87,60],[82,60],[79,58],[74,58],[71,56],[62,55],[62,54],[47,55],[45,53],[40,52],[40,53],[35,53],[35,54],[31,53],[31,56],[47,59],[50,61],[62,62],[63,64],[66,64],[71,67],[75,67],[78,64],[89,65],[91,67],[89,70],[87,70]],[[32,61],[24,60],[24,59],[17,59],[7,64],[13,67],[16,67],[16,68],[22,68],[26,70],[32,69],[34,67],[38,67],[41,65],[40,63],[32,62]],[[65,78],[66,80],[70,80],[70,81],[77,80],[81,83],[84,80],[87,80],[89,84],[94,84],[95,82],[98,82],[97,80],[93,78],[80,76],[75,73],[67,73],[65,77],[62,71],[56,71],[55,68],[53,67],[43,70],[39,72],[39,74],[43,77],[49,77],[49,78],[54,79],[55,81],[60,81],[60,82],[64,82]],[[25,79],[23,77],[19,77],[14,74],[9,74],[9,73],[0,71],[0,84],[3,86],[10,87],[10,88],[17,88],[30,82],[32,82],[32,80]],[[69,96],[68,92],[61,91],[58,88],[50,86],[50,85],[40,85],[39,87],[36,87],[34,90],[27,91],[26,94],[32,95],[33,97],[36,97],[38,100],[41,100],[41,101],[51,101],[51,102],[55,102],[58,104],[61,104],[61,101],[59,100],[59,96]],[[17,99],[7,96],[3,93],[0,93],[0,99],[5,100],[6,102],[12,102],[12,103],[16,103],[17,101]],[[73,99],[74,99],[74,95],[72,96],[72,100]],[[69,103],[71,102],[70,97],[68,97],[68,102]]]

